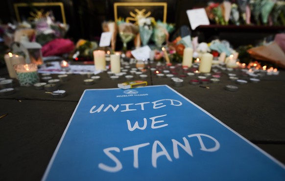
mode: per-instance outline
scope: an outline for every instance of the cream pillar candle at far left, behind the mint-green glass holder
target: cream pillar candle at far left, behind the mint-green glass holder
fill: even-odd
[[[15,55],[12,53],[8,53],[4,55],[4,59],[10,78],[17,78],[14,65],[24,64],[25,63],[24,57],[22,55]]]

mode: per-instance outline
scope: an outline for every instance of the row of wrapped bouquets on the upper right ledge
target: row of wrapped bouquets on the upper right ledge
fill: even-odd
[[[205,9],[210,21],[218,25],[285,26],[284,0],[225,0],[209,2]]]

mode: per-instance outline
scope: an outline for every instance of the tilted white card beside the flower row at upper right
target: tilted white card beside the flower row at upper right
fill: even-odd
[[[192,30],[196,29],[196,27],[200,25],[210,25],[204,8],[187,10],[186,13]]]

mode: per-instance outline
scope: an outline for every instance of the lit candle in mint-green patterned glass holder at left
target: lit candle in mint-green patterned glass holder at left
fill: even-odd
[[[39,82],[36,64],[17,64],[15,65],[15,70],[21,86],[31,86]]]

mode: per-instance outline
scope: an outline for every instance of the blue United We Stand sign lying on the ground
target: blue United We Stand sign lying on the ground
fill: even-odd
[[[85,90],[43,181],[284,181],[285,166],[166,85]]]

